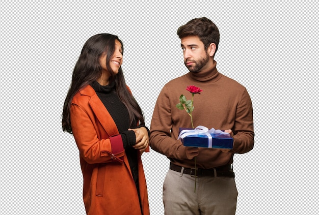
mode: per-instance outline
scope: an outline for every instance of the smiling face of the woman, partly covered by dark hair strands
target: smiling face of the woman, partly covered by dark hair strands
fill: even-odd
[[[102,56],[100,57],[100,66],[102,68],[102,74],[110,74],[108,72],[107,65],[105,62],[107,62],[107,54],[103,53]],[[122,45],[118,40],[115,40],[114,54],[110,60],[110,66],[115,75],[118,74],[119,68],[122,65],[122,63],[123,63]]]

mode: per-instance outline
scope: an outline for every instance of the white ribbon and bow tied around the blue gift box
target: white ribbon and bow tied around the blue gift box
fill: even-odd
[[[208,148],[212,147],[212,137],[210,134],[225,134],[225,135],[230,135],[227,132],[223,132],[222,130],[215,130],[214,128],[208,130],[208,128],[204,127],[204,126],[197,126],[195,129],[193,130],[189,130],[189,129],[185,129],[180,131],[178,138],[183,139],[184,137],[187,136],[191,136],[191,135],[206,135],[208,137]]]

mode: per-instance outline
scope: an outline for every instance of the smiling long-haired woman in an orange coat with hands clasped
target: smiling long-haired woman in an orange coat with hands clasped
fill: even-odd
[[[63,131],[79,149],[87,214],[149,214],[141,154],[142,110],[125,84],[123,44],[99,34],[83,46],[63,107]]]

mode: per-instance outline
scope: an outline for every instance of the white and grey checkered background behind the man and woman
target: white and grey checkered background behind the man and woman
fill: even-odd
[[[236,214],[316,214],[317,14],[316,1],[1,1],[0,213],[85,214],[61,114],[89,37],[124,42],[126,82],[149,126],[163,85],[188,72],[177,28],[206,16],[220,29],[218,70],[254,108],[255,147],[234,156]],[[143,163],[151,214],[164,214],[168,159],[151,150]]]

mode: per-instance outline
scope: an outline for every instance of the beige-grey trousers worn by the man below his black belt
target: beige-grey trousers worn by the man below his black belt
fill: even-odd
[[[234,215],[237,189],[231,177],[195,177],[169,170],[163,185],[166,215]]]

